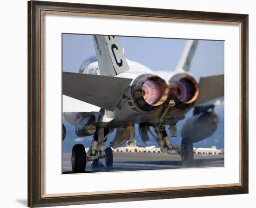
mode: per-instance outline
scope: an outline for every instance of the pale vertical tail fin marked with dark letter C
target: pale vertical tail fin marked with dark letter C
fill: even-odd
[[[93,40],[101,75],[113,77],[129,70],[126,58],[115,36],[94,35]]]

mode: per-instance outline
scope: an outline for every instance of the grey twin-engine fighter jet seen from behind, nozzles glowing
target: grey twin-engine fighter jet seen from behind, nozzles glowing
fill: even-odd
[[[192,163],[193,143],[211,136],[219,123],[215,106],[202,104],[224,95],[223,74],[200,78],[197,83],[189,73],[198,40],[188,40],[177,73],[168,81],[152,74],[146,66],[126,59],[117,37],[94,35],[93,41],[96,57],[84,62],[80,73],[62,72],[63,102],[65,97],[72,97],[100,107],[98,111],[63,112],[66,121],[75,126],[77,136],[93,135],[87,152],[82,144],[74,145],[73,172],[84,172],[88,162],[98,167],[101,158],[111,167],[111,148],[132,142],[135,124],[143,142],[151,134],[163,153],[180,155],[183,163]],[[176,123],[192,108],[193,116],[181,129],[181,145],[173,145],[167,129],[171,137],[177,136]],[[64,140],[66,129],[62,127]],[[114,130],[114,140],[110,147],[105,147]]]

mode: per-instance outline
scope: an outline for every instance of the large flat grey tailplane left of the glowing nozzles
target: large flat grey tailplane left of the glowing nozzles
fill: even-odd
[[[62,72],[62,93],[114,111],[132,79]]]

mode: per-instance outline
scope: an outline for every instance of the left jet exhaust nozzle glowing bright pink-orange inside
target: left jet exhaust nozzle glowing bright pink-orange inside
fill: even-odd
[[[168,98],[168,85],[153,74],[142,74],[132,85],[132,97],[142,110],[154,110]]]

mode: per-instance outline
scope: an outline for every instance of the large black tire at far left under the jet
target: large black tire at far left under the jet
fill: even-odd
[[[71,155],[71,166],[74,173],[84,173],[86,167],[86,152],[84,149],[84,145],[74,145]]]

